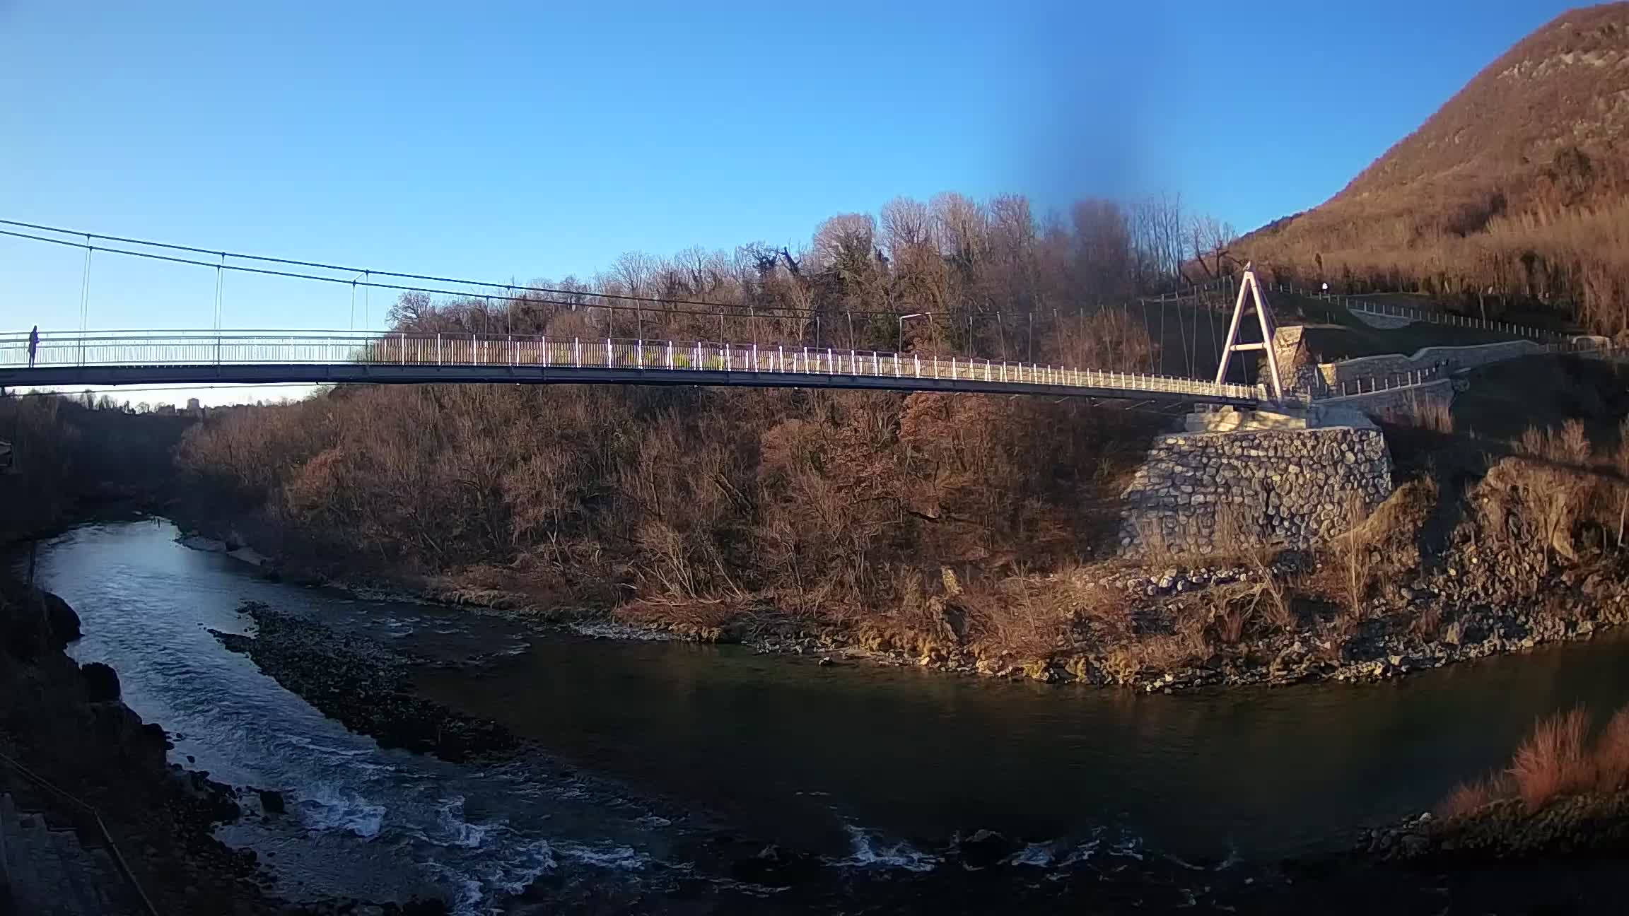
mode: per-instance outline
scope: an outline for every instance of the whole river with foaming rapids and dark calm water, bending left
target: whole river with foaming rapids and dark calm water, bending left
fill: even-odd
[[[37,575],[83,619],[72,654],[119,672],[125,702],[171,732],[171,760],[288,792],[287,817],[220,836],[277,865],[292,896],[441,893],[487,913],[539,879],[663,893],[710,874],[720,830],[901,872],[933,869],[979,828],[1030,843],[1038,864],[1098,844],[1300,856],[1430,807],[1505,760],[1536,716],[1629,699],[1621,637],[1381,685],[1150,696],[591,639],[267,582],[176,538],[163,520],[80,526],[41,546]],[[244,600],[479,660],[425,667],[419,688],[551,760],[381,750],[207,632],[251,629]]]

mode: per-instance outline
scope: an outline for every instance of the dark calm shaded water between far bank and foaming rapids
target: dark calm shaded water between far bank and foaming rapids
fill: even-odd
[[[1137,694],[818,667],[740,647],[541,639],[420,688],[585,766],[831,848],[1121,828],[1189,856],[1341,848],[1508,758],[1535,717],[1629,699],[1629,641],[1381,685]]]

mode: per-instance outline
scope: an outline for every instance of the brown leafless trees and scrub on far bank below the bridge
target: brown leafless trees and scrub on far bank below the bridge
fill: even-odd
[[[1166,421],[1036,398],[342,388],[210,421],[178,460],[194,517],[215,507],[290,569],[1178,688],[1375,676],[1621,623],[1629,450],[1605,414],[1515,442],[1434,416],[1398,492],[1319,551],[1240,520],[1232,556],[1142,562],[1114,556],[1117,494]]]

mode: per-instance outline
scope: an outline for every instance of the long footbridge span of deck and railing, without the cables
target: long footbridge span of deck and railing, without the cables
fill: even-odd
[[[1256,404],[1258,386],[829,347],[481,334],[49,334],[0,337],[0,386],[215,383],[603,383],[870,388]]]

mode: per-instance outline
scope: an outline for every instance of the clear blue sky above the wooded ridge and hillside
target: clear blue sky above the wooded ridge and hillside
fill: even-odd
[[[0,217],[520,280],[940,191],[1171,191],[1248,230],[1567,7],[0,0]],[[0,331],[75,328],[80,264],[0,240]],[[225,323],[349,302],[228,277]],[[93,267],[93,328],[212,311],[209,272]]]

